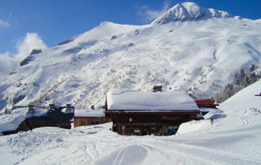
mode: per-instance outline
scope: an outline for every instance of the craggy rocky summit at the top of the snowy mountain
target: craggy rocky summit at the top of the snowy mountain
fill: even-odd
[[[152,22],[152,24],[166,24],[173,21],[190,21],[209,18],[229,18],[232,17],[228,12],[206,9],[200,7],[193,2],[178,3],[166,13],[160,16],[158,19]]]

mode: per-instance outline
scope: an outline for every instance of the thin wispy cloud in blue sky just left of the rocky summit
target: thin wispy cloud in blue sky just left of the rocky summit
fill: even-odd
[[[151,10],[148,5],[138,6],[136,7],[136,9],[138,9],[137,14],[140,15],[145,22],[149,22],[149,21],[154,21],[162,14],[167,12],[169,6],[170,6],[170,0],[165,1],[163,3],[163,8],[160,10]]]

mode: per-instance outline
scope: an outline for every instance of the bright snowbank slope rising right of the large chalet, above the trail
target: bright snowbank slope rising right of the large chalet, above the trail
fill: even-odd
[[[248,127],[260,126],[261,117],[261,97],[255,97],[261,91],[261,80],[255,82],[236,93],[218,106],[220,110],[207,109],[211,111],[207,114],[203,121],[193,121],[183,123],[179,129],[179,133],[209,130],[207,123],[209,119],[215,120],[215,127],[212,131],[221,131],[226,127],[227,130],[247,130]],[[206,109],[205,109],[206,110]],[[242,129],[244,128],[244,129]]]

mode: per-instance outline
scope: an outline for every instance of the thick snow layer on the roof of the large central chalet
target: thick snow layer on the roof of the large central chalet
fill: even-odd
[[[106,95],[108,110],[199,110],[186,92],[110,91]]]

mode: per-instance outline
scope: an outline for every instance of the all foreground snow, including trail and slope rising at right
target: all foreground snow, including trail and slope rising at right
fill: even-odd
[[[254,94],[260,85],[258,81],[243,89],[207,119],[186,123],[186,133],[172,136],[122,136],[108,130],[112,123],[73,130],[43,127],[1,136],[1,163],[258,165],[261,102]],[[227,117],[215,118],[218,113]]]

